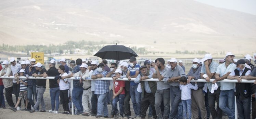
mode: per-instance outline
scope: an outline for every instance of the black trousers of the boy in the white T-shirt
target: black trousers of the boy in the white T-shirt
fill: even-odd
[[[62,101],[62,107],[64,111],[69,111],[69,89],[67,90],[60,90],[60,97]]]

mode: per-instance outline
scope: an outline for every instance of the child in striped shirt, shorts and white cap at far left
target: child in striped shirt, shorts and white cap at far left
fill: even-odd
[[[18,73],[20,74],[20,76],[25,76],[25,75],[24,75],[24,73],[25,73],[25,70],[24,70],[24,69],[21,69]],[[26,102],[26,104],[25,104],[25,109],[23,109],[23,110],[27,111],[27,107],[28,107],[28,99],[27,99],[27,97],[28,97],[28,95],[27,95],[27,94],[28,94],[28,93],[27,93],[27,79],[20,79],[20,76],[18,76],[18,77],[16,78],[17,84],[20,83],[20,94],[19,94],[19,96],[18,96],[18,101],[17,101],[15,107],[11,107],[11,108],[10,108],[10,109],[13,110],[13,111],[17,111],[17,107],[18,107],[18,105],[20,104],[22,98],[24,98],[24,100],[25,100],[25,102]]]

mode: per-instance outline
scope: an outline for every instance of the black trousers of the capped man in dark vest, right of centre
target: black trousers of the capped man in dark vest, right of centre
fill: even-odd
[[[140,110],[141,110],[141,118],[146,117],[146,112],[149,108],[149,105],[152,107],[152,116],[156,119],[156,110],[155,110],[155,97],[153,93],[146,93],[144,91],[144,96],[140,101]]]

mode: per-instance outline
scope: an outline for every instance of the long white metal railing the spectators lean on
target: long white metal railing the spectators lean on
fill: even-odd
[[[14,76],[1,76],[0,78],[3,78],[3,79],[13,79]],[[27,79],[27,77],[20,77],[20,79]],[[29,77],[29,79],[54,79],[54,77],[46,77],[46,78],[43,78],[43,77]],[[71,80],[71,92],[72,92],[72,89],[73,89],[73,80],[80,80],[80,77],[72,77],[72,78],[66,78],[66,79],[70,79]],[[134,81],[136,78],[131,78],[131,81]],[[92,80],[92,79],[86,79],[86,80]],[[98,79],[94,79],[94,80],[113,80],[112,78],[107,78],[107,77],[103,77],[103,78],[98,78]],[[121,81],[128,81],[128,78],[119,78],[117,80],[121,80]],[[215,79],[210,79],[210,82],[213,82]],[[158,79],[145,79],[143,81],[159,81]],[[162,80],[163,81],[163,80]],[[207,82],[205,79],[197,79],[197,80],[191,80],[191,82]],[[221,81],[218,81],[218,82],[230,82],[230,83],[237,83],[238,81],[237,80],[230,80],[230,79],[224,79],[224,80],[221,80]],[[242,83],[254,83],[254,80],[246,80],[246,79],[242,79],[241,80]],[[235,98],[236,100],[236,98]],[[71,101],[72,103],[72,115],[74,115],[74,104],[73,102]],[[237,113],[237,107],[236,107],[236,103],[235,103],[235,119],[238,118],[238,113]]]

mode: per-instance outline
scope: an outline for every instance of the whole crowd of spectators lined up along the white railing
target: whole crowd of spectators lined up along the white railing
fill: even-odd
[[[255,102],[256,68],[251,64],[251,56],[246,55],[236,61],[234,57],[228,52],[223,64],[214,62],[211,54],[205,54],[201,60],[194,58],[188,74],[185,74],[182,61],[178,62],[176,58],[169,59],[167,65],[164,58],[145,60],[144,64],[138,64],[136,57],[132,56],[129,64],[119,61],[110,67],[105,59],[98,63],[80,58],[72,60],[68,67],[65,58],[62,58],[60,66],[55,67],[56,61],[52,59],[46,70],[34,58],[18,64],[11,57],[10,61],[3,61],[0,65],[1,76],[15,77],[0,79],[0,108],[6,108],[3,95],[5,88],[5,98],[11,110],[46,112],[43,98],[46,79],[29,78],[32,76],[55,77],[49,80],[49,113],[54,114],[59,113],[60,104],[63,114],[70,114],[72,100],[76,115],[96,118],[209,119],[211,115],[213,119],[221,119],[226,114],[229,119],[234,119],[236,103],[240,119],[255,118],[253,112],[256,106],[252,106],[251,111],[251,105]],[[21,76],[27,78],[20,79]],[[73,80],[72,91],[71,80],[68,79],[71,77],[79,79]],[[113,80],[95,80],[103,77]],[[122,78],[128,78],[129,81],[118,80]],[[150,78],[159,81],[143,81]],[[191,82],[192,79],[205,79],[207,82]],[[210,82],[210,79],[215,80]],[[219,82],[223,79],[237,80],[238,83]],[[242,79],[255,82],[243,83]],[[15,94],[16,105],[12,94]],[[32,100],[33,94],[36,100]],[[25,104],[23,109],[22,100]],[[130,100],[135,113],[133,116]],[[108,104],[112,105],[110,113]]]

